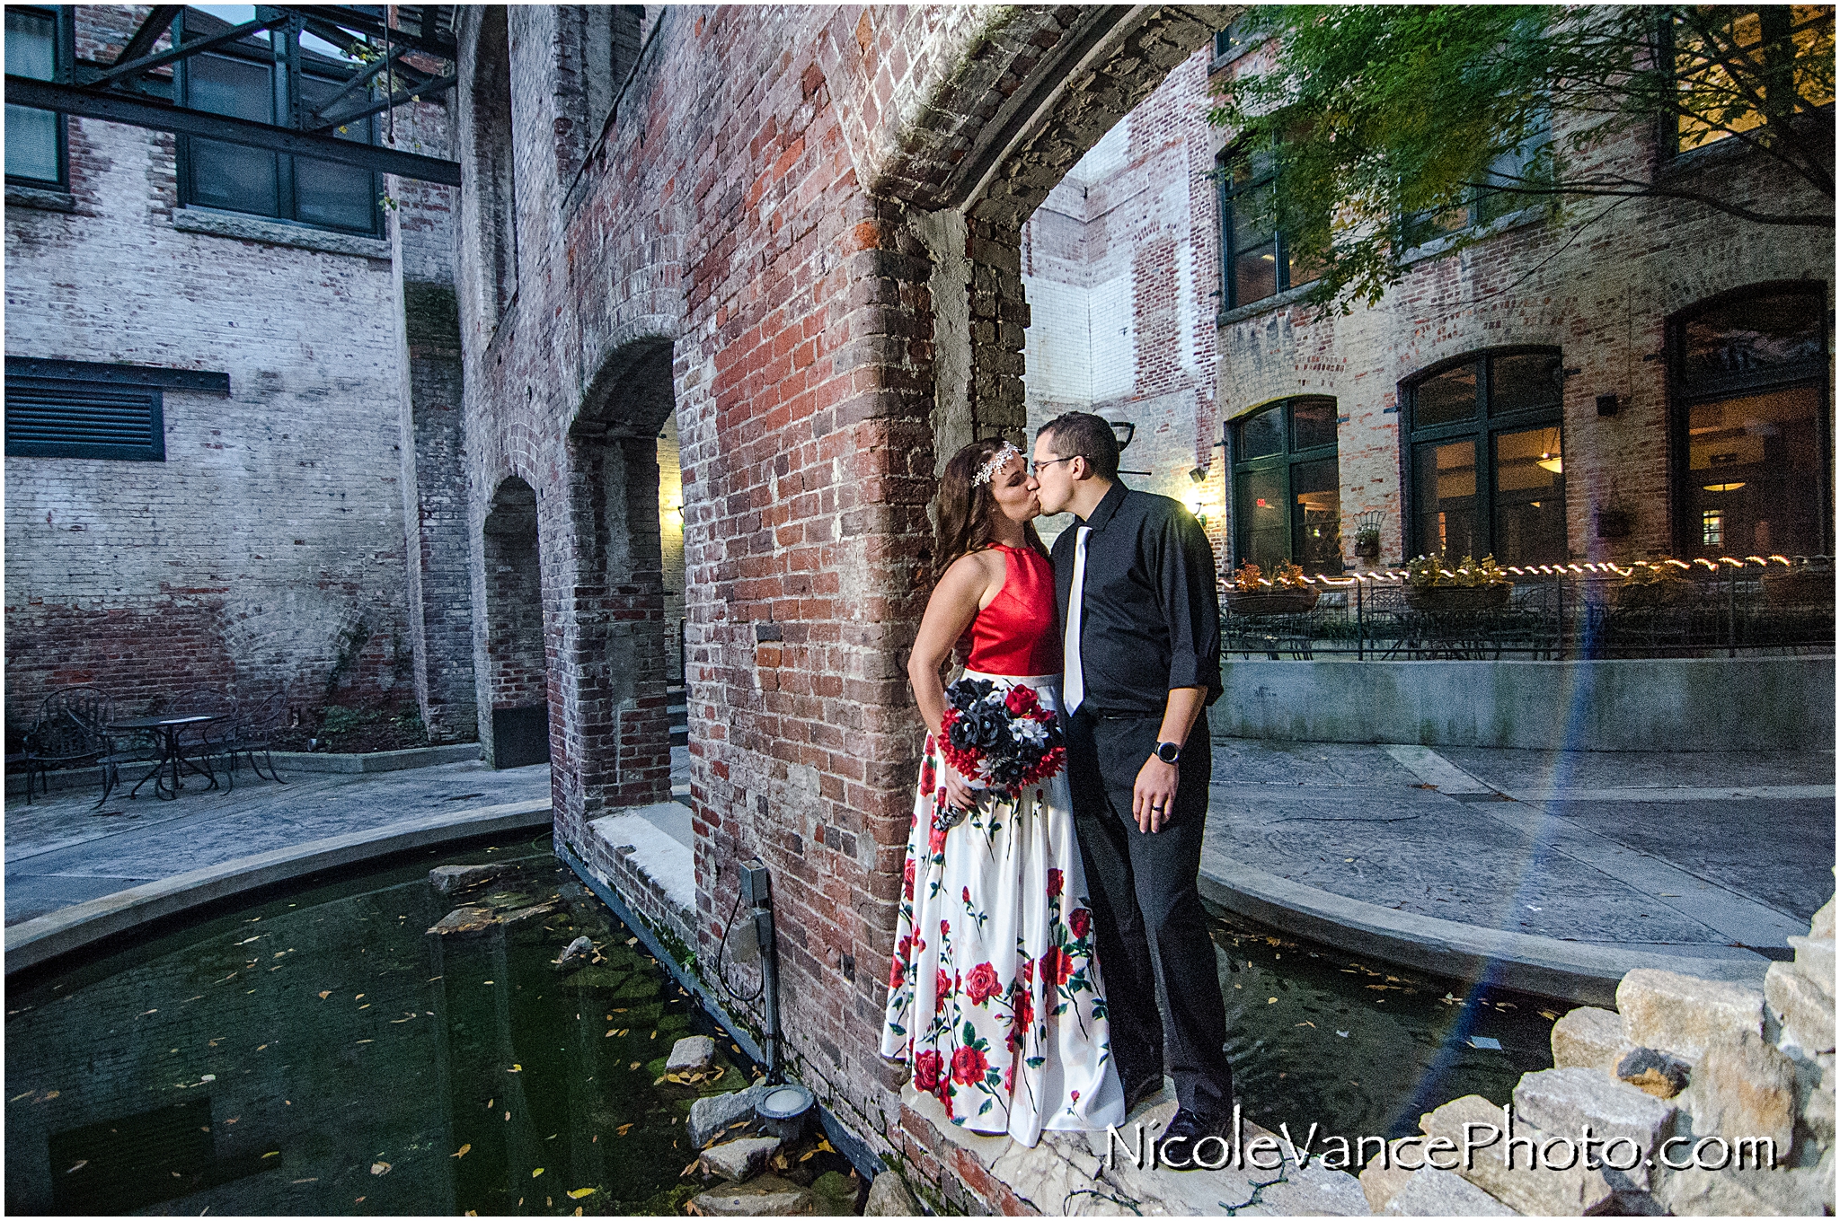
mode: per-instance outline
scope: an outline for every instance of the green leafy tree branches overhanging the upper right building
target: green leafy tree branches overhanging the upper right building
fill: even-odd
[[[1632,131],[1660,129],[1669,143],[1687,132],[1684,145],[1731,138],[1833,200],[1831,118],[1814,114],[1834,92],[1831,7],[1796,9],[1800,26],[1687,6],[1251,13],[1240,33],[1273,42],[1242,61],[1211,118],[1236,132],[1236,149],[1275,151],[1281,186],[1264,219],[1321,267],[1306,296],[1319,307],[1376,302],[1404,276],[1402,223],[1470,204],[1492,202],[1479,211],[1500,217],[1669,197],[1761,224],[1834,223],[1831,206],[1739,200],[1730,175],[1654,180],[1593,158]],[[1446,248],[1479,239],[1448,228]]]

